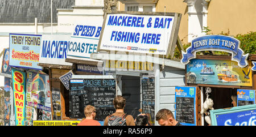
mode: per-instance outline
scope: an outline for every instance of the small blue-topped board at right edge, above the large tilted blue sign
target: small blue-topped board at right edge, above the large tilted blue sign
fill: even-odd
[[[237,89],[237,105],[255,104],[255,90]]]

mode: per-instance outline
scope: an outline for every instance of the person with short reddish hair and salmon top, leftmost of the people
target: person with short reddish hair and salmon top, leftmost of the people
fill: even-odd
[[[82,121],[77,126],[101,126],[100,122],[94,120],[96,117],[96,109],[92,105],[87,105],[84,108],[84,114],[85,119],[82,119]]]

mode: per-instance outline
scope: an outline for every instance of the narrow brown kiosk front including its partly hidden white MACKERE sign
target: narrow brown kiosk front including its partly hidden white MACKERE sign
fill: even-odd
[[[70,36],[68,35],[42,36],[39,66],[47,70],[49,74],[52,120],[63,120],[68,115],[65,113],[65,108],[69,106],[65,100],[68,98],[68,87],[63,79],[68,79],[73,73],[73,64],[65,62],[69,43]],[[64,78],[60,79],[61,76]]]

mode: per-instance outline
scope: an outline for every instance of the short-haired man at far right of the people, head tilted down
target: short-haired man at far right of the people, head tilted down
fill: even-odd
[[[155,119],[160,126],[182,126],[180,122],[175,120],[171,110],[168,109],[160,109],[156,113]]]

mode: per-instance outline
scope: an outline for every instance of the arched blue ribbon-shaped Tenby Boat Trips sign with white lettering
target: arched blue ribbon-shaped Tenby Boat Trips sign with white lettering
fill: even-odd
[[[247,54],[243,54],[243,50],[240,48],[240,41],[236,38],[222,35],[206,35],[197,37],[191,42],[191,46],[187,48],[187,52],[182,52],[183,58],[181,63],[187,64],[192,58],[196,58],[196,52],[214,50],[221,52],[232,53],[232,61],[238,62],[238,66],[246,67]]]

